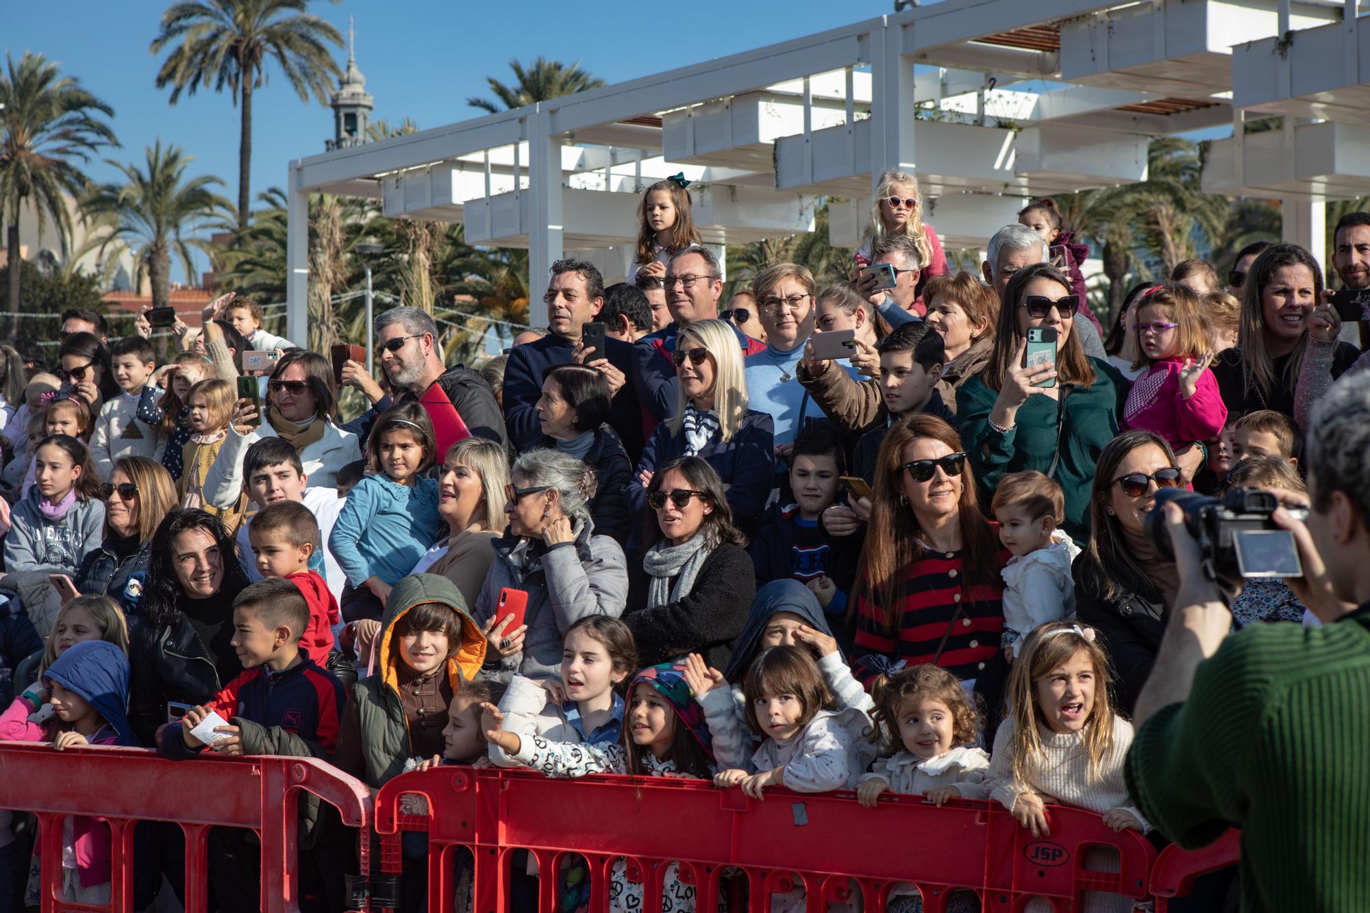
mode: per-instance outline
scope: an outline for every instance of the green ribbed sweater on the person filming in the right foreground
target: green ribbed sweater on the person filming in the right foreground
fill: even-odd
[[[1243,910],[1370,910],[1370,603],[1229,636],[1137,731],[1126,777],[1180,846],[1243,829]]]

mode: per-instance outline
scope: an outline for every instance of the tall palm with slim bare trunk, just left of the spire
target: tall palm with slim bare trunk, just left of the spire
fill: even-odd
[[[342,34],[325,19],[304,12],[308,0],[206,0],[177,3],[162,14],[152,53],[175,45],[158,71],[158,88],[171,86],[171,104],[182,90],[225,86],[241,97],[238,136],[238,230],[248,226],[252,171],[252,92],[266,85],[266,63],[275,58],[301,101],[310,95],[326,104],[332,80],[341,75],[327,42],[342,47]]]

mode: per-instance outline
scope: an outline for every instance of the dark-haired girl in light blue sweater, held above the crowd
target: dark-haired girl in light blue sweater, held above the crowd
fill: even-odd
[[[340,607],[348,621],[379,618],[400,577],[434,541],[444,521],[437,513],[433,421],[419,403],[388,409],[367,439],[375,474],[347,496],[329,536],[329,548],[347,574]],[[364,533],[364,535],[363,535]]]

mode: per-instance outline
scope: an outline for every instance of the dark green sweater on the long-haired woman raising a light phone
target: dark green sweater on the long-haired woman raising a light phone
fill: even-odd
[[[1073,388],[1066,396],[1055,478],[1066,492],[1066,522],[1062,529],[1084,546],[1089,540],[1089,488],[1095,481],[1099,454],[1118,435],[1118,421],[1128,399],[1128,381],[1112,365],[1091,358],[1095,382]],[[1045,473],[1056,456],[1058,402],[1033,393],[1018,407],[1007,435],[989,426],[999,391],[971,377],[956,391],[956,418],[960,446],[970,454],[970,467],[980,484],[981,503],[988,507],[999,480],[1007,473],[1036,469]],[[982,448],[984,446],[984,448]],[[988,450],[988,452],[985,452]]]

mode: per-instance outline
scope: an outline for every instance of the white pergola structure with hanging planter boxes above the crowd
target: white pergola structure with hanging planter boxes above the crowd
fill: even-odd
[[[982,247],[1025,197],[1145,180],[1151,137],[1233,123],[1204,188],[1284,200],[1286,239],[1321,252],[1322,202],[1370,192],[1366,42],[1356,0],[944,0],[297,159],[286,332],[306,339],[314,192],[526,247],[534,285],[567,252],[614,280],[641,189],[671,174],[714,245],[811,230],[827,197],[855,245],[900,169],[947,247]],[[1248,110],[1292,117],[1244,137]]]

